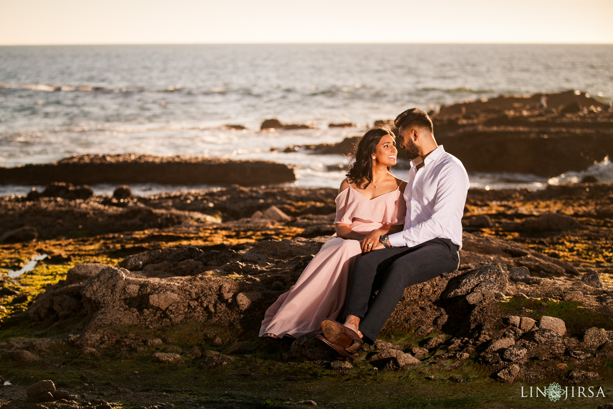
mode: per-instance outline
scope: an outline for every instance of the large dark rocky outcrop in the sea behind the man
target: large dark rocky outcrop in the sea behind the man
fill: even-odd
[[[587,93],[500,96],[443,106],[430,115],[436,142],[459,158],[468,172],[555,177],[585,170],[613,152],[613,108]],[[393,128],[393,120],[377,124]],[[348,137],[339,143],[286,151],[302,148],[346,155],[358,140]]]

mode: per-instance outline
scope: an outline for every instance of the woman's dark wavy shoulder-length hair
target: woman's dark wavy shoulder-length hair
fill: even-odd
[[[360,139],[357,147],[354,147],[351,159],[349,159],[349,172],[346,175],[349,182],[357,185],[364,178],[366,183],[361,187],[362,189],[366,189],[373,182],[373,153],[375,153],[381,138],[386,135],[391,136],[393,140],[396,138],[391,129],[382,126],[381,128],[371,129]],[[387,170],[389,171],[389,169],[388,166]]]

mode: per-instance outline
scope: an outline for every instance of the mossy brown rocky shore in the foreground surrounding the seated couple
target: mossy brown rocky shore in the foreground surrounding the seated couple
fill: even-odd
[[[69,187],[50,192],[75,194]],[[611,380],[613,185],[471,189],[460,268],[406,289],[379,341],[353,365],[335,361],[312,337],[257,338],[265,309],[333,232],[334,197],[334,189],[229,186],[150,197],[120,188],[115,197],[4,199],[4,221],[141,207],[185,218],[168,226],[117,222],[122,231],[68,238],[53,238],[56,227],[42,223],[39,240],[51,239],[0,245],[5,268],[34,254],[50,256],[21,277],[3,273],[0,374],[13,386],[0,387],[0,402],[42,408],[53,401],[64,408],[125,401],[152,408],[151,399],[158,399],[199,407],[172,382],[167,396],[152,395],[153,385],[164,381],[141,375],[151,368],[189,373],[204,388],[229,377],[241,385],[238,391],[260,390],[250,377],[273,381],[267,368],[295,379],[318,373],[321,389],[308,389],[308,396],[302,387],[295,401],[273,393],[270,407],[279,408],[307,400],[334,406],[323,389],[351,373],[384,383],[394,382],[386,373],[400,373],[425,389],[431,381],[470,389]],[[120,365],[139,375],[131,380],[102,371]],[[25,378],[20,367],[40,375]],[[215,399],[227,403],[219,393]],[[10,402],[2,400],[7,396]],[[206,407],[218,404],[211,402]]]

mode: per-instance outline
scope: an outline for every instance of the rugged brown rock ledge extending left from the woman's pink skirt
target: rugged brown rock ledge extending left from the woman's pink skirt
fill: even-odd
[[[93,277],[70,270],[70,281],[50,286],[29,315],[39,322],[83,315],[85,333],[75,343],[94,348],[128,336],[112,335],[112,323],[162,327],[195,321],[232,326],[238,334],[253,331],[280,294],[268,288],[275,282],[293,282],[295,265],[322,244],[265,240],[245,250],[206,252],[178,247],[130,256],[120,267],[107,266]],[[248,273],[244,266],[251,266]],[[80,272],[100,268],[75,267]]]

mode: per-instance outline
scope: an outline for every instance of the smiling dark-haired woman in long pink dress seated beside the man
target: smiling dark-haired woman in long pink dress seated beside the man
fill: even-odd
[[[336,234],[295,285],[268,308],[259,336],[321,334],[321,321],[342,316],[356,259],[370,251],[382,235],[403,229],[406,182],[390,173],[396,164],[395,145],[394,134],[387,128],[364,134],[335,199]]]

